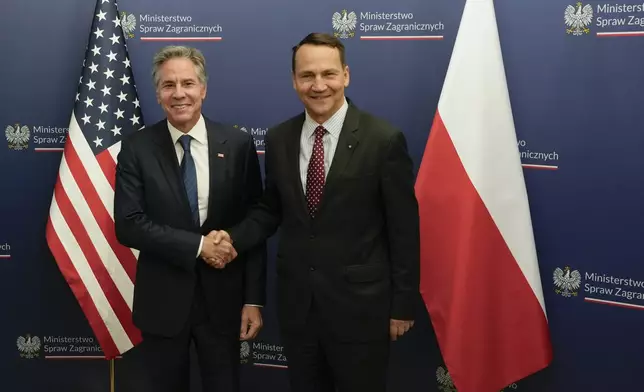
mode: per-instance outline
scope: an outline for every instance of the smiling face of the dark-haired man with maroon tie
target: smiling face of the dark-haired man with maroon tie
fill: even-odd
[[[322,124],[344,104],[349,67],[340,51],[324,45],[302,45],[295,54],[293,88],[309,115]]]

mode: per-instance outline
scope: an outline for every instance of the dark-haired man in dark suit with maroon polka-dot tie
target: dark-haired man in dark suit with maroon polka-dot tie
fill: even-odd
[[[268,131],[264,198],[215,235],[243,252],[281,225],[277,311],[293,392],[385,391],[389,340],[412,327],[419,298],[405,137],[347,101],[348,85],[338,39],[310,34],[293,48],[306,110]]]

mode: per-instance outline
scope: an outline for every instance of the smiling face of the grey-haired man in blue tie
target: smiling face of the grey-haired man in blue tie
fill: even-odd
[[[157,101],[168,121],[182,132],[188,132],[199,121],[206,86],[199,81],[196,66],[187,58],[173,58],[161,65]]]

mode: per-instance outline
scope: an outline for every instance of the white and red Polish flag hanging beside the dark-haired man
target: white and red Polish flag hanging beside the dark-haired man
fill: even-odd
[[[552,348],[492,0],[467,0],[416,182],[421,293],[459,392]]]

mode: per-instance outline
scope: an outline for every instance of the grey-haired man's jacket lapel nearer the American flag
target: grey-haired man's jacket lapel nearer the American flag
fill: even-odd
[[[174,144],[172,143],[170,130],[165,122],[160,125],[156,134],[155,142],[157,144],[156,156],[159,160],[161,170],[163,170],[165,178],[168,181],[170,190],[177,199],[178,205],[183,208],[184,215],[187,218],[190,218],[190,204],[188,203],[188,197],[186,196],[186,191],[183,187],[181,169],[177,160],[177,152]]]

